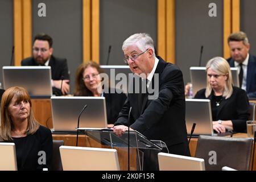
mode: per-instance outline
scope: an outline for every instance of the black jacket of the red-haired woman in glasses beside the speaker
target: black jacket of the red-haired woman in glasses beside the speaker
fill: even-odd
[[[104,97],[106,100],[108,124],[114,124],[115,121],[117,121],[118,114],[121,111],[123,104],[125,103],[126,95],[124,93],[109,92],[104,93]]]

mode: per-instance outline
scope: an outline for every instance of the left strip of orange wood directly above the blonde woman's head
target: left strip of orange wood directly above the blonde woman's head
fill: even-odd
[[[228,59],[230,57],[230,51],[228,46],[228,37],[231,34],[231,0],[224,0],[224,9],[223,9],[223,25],[224,25],[224,32],[223,32],[223,57]]]

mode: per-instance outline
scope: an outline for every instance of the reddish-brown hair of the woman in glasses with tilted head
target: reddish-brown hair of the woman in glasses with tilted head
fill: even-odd
[[[99,74],[104,73],[103,69],[100,68],[100,65],[93,61],[80,64],[76,69],[74,96],[93,96],[93,93],[90,92],[90,90],[85,86],[84,80],[82,80],[82,74],[88,67],[96,68]]]

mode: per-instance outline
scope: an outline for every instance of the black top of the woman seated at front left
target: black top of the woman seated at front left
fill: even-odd
[[[51,130],[44,126],[40,126],[38,131],[33,135],[27,137],[13,138],[7,142],[15,143],[16,158],[18,170],[40,170],[48,168],[51,170],[52,165],[52,133]],[[45,155],[39,153],[44,151]],[[46,164],[39,164],[38,161],[43,162],[43,156],[46,157]]]

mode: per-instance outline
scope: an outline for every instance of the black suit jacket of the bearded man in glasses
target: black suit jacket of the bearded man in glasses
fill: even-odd
[[[28,57],[21,61],[22,66],[38,66],[33,57]],[[69,80],[68,63],[67,59],[60,59],[55,56],[51,56],[49,60],[49,66],[51,67],[52,80]],[[62,77],[62,78],[61,78]],[[60,89],[52,88],[53,94],[61,96]]]

